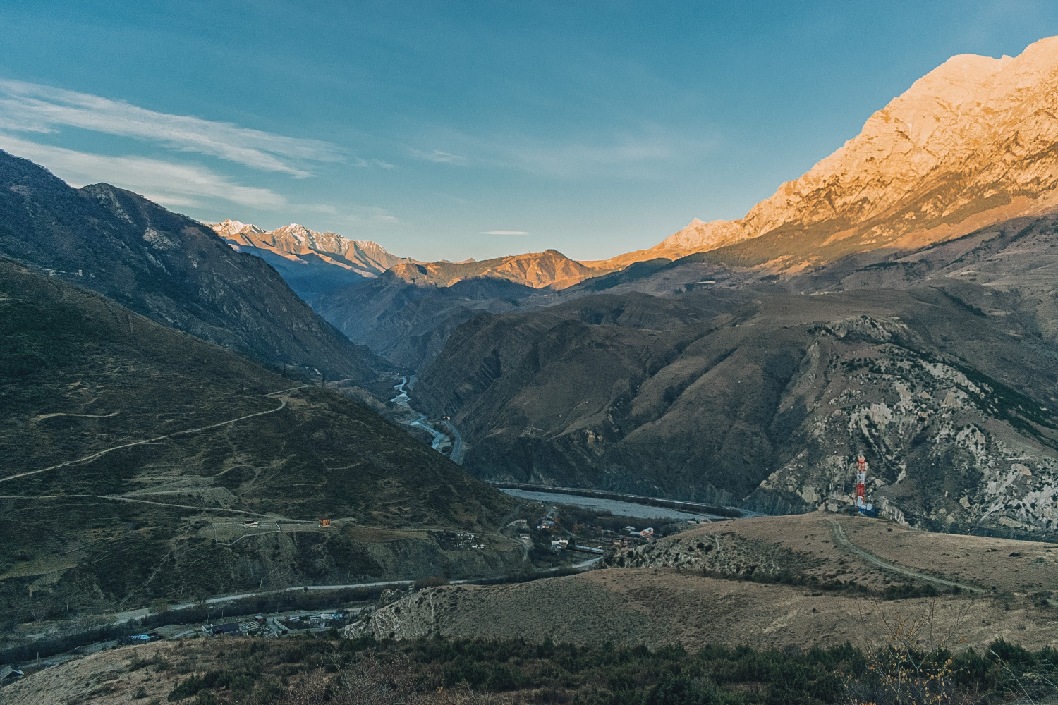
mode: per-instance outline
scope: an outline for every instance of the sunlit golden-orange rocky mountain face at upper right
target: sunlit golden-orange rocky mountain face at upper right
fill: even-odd
[[[717,261],[801,268],[1048,212],[1058,207],[1055,114],[1058,37],[1013,58],[954,56],[744,218],[695,220],[609,264],[717,251]]]

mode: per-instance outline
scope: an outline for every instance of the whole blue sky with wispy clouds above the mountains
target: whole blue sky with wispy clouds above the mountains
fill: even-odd
[[[0,149],[203,222],[604,259],[733,219],[1053,0],[0,6]]]

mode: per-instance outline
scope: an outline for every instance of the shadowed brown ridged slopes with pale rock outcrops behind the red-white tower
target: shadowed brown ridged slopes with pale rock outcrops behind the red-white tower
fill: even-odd
[[[480,477],[804,512],[865,452],[915,525],[1053,536],[1055,344],[1002,305],[971,282],[586,297],[464,323],[412,396]]]

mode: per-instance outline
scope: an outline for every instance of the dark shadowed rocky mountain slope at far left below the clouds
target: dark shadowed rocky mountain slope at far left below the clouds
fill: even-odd
[[[233,252],[203,225],[107,184],[71,188],[5,152],[0,254],[273,367],[358,381],[385,367],[261,259]]]

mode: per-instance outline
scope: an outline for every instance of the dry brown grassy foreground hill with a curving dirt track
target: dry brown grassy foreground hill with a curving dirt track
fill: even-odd
[[[861,546],[868,555],[882,554],[891,569],[855,553]],[[1050,643],[1046,632],[1058,614],[1056,548],[936,537],[825,513],[740,519],[623,550],[604,570],[413,593],[346,633],[399,639],[487,633],[688,650],[704,644],[810,649],[851,643],[870,650],[891,645],[887,637],[902,619],[905,629],[919,632],[919,646],[933,639],[949,649],[980,650],[1004,638],[1040,648]],[[780,569],[769,571],[777,558]],[[892,569],[926,578],[947,575],[973,590],[952,592]]]

